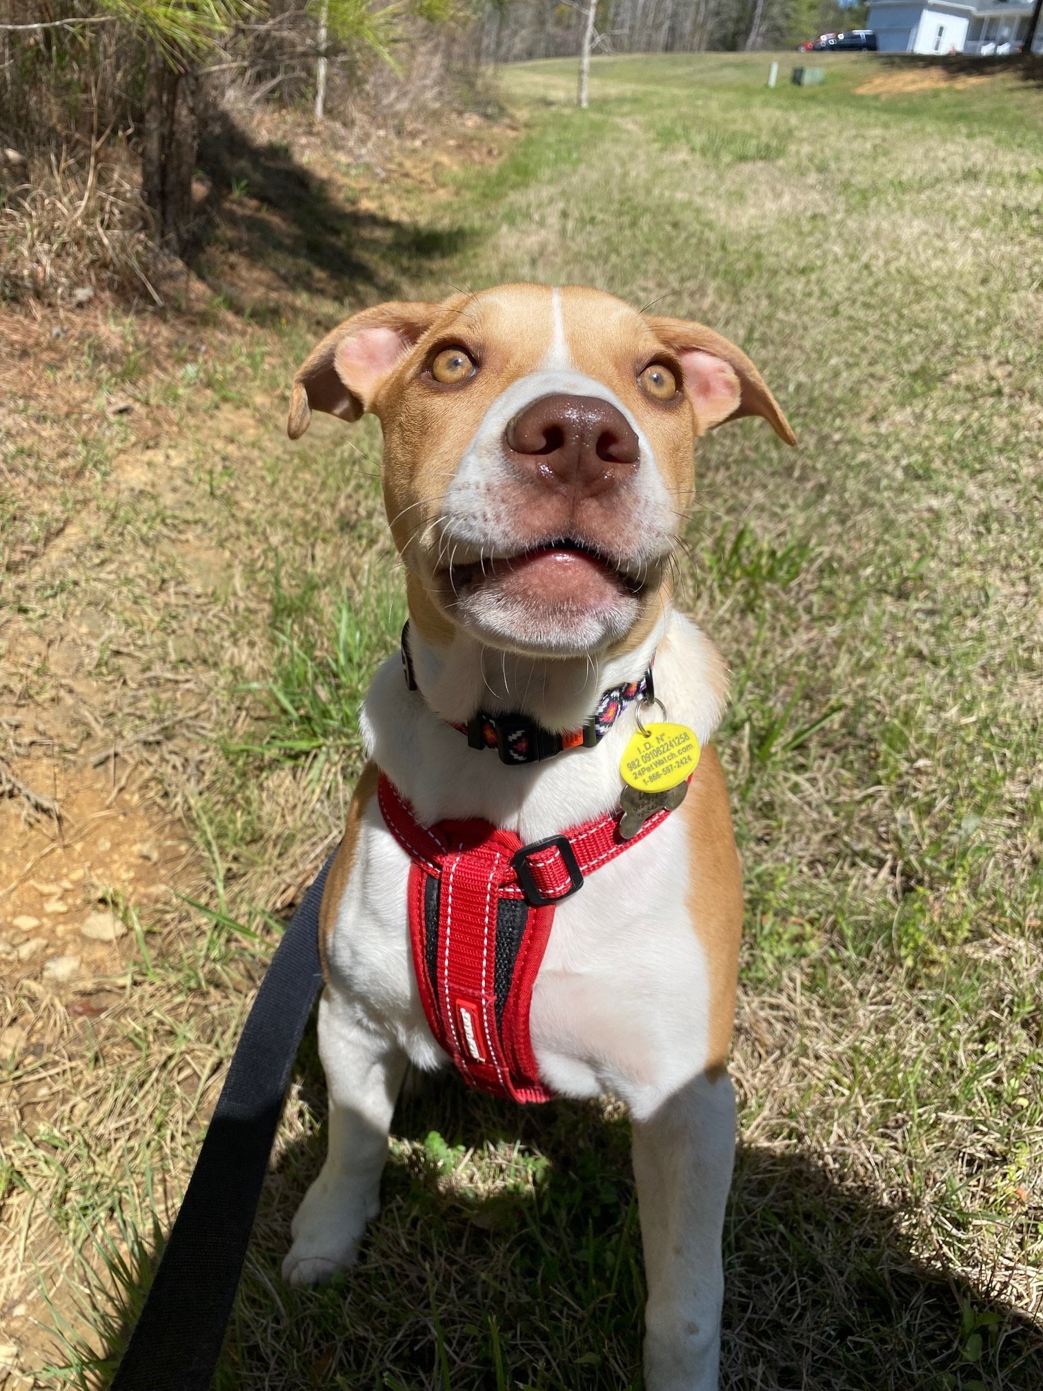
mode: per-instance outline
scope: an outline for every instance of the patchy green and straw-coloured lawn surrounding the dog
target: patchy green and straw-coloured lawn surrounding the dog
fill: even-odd
[[[701,444],[681,558],[681,602],[731,668],[718,747],[747,883],[722,1384],[1037,1391],[1043,90],[869,58],[805,90],[789,65],[768,90],[762,56],[598,60],[587,113],[572,64],[505,70],[520,134],[448,192],[396,191],[374,280],[597,285],[727,334],[782,401],[797,449],[762,421]],[[211,911],[139,933],[110,1043],[6,1148],[18,1256],[38,1242],[54,1285],[68,1252],[81,1291],[54,1355],[74,1383],[92,1320],[103,1353],[120,1337],[95,1238],[152,1251],[152,1213],[177,1206],[277,935],[271,867],[306,875],[335,839],[359,693],[402,618],[375,430],[278,434],[292,363],[342,307],[286,303],[170,406],[192,524],[238,576],[178,658],[213,701],[202,773],[191,793],[164,775],[211,867],[184,892]],[[143,526],[131,510],[99,544]],[[161,605],[118,604],[160,641]],[[394,1135],[359,1269],[284,1287],[324,1150],[312,1039],[220,1385],[641,1387],[626,1117],[520,1113],[446,1078]]]

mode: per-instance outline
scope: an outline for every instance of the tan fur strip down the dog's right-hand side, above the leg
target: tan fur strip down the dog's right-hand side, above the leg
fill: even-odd
[[[731,1042],[743,932],[743,867],[731,829],[725,773],[716,750],[702,750],[688,796],[676,814],[688,833],[688,912],[706,954],[709,1040],[706,1072],[725,1070]]]

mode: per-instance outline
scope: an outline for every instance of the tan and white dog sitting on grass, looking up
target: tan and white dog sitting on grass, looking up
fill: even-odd
[[[687,800],[556,910],[531,999],[541,1079],[609,1095],[633,1117],[648,1281],[649,1391],[718,1384],[720,1234],[734,1152],[731,1034],[741,878],[720,764],[705,747],[723,662],[672,606],[693,501],[693,444],[759,415],[794,435],[754,364],[698,324],[580,288],[506,285],[355,314],[293,383],[312,410],[384,430],[384,501],[406,570],[412,659],[377,672],[359,779],[321,912],[318,1040],[325,1164],[293,1220],[284,1274],[330,1277],[378,1210],[407,1063],[446,1063],[417,992],[409,855],[374,796],[378,771],[416,819],[484,818],[537,842],[619,804],[630,708],[590,748],[505,766],[452,723],[522,709],[549,730],[655,658],[655,694],[704,746]]]

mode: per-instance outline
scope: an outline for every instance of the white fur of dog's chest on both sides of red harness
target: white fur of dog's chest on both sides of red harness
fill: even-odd
[[[356,871],[330,943],[334,982],[424,1068],[445,1061],[427,1028],[409,942],[409,858],[367,808]],[[565,1096],[611,1093],[641,1114],[702,1066],[708,972],[687,910],[681,818],[591,872],[555,911],[533,990],[541,1078]]]

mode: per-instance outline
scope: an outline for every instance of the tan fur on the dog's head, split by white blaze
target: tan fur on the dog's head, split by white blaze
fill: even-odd
[[[384,427],[384,504],[399,554],[405,558],[410,609],[424,636],[445,645],[452,619],[444,612],[434,583],[439,556],[437,519],[459,460],[488,408],[517,377],[538,369],[551,346],[552,291],[547,285],[501,285],[474,295],[458,294],[441,303],[388,303],[362,310],[314,348],[293,378],[288,428],[298,438],[312,410],[355,420],[371,410]],[[652,444],[663,481],[670,488],[683,530],[694,484],[693,441],[706,428],[686,392],[676,402],[651,401],[637,377],[656,359],[706,352],[736,374],[740,403],[731,417],[761,415],[782,438],[794,434],[757,367],[734,344],[681,319],[638,314],[602,291],[566,287],[560,292],[566,344],[576,367],[605,381],[641,421]],[[381,380],[350,378],[343,344],[367,328],[392,330],[402,355]],[[453,389],[424,380],[424,364],[438,346],[459,345],[478,371]],[[716,420],[711,424],[719,423]],[[630,650],[651,629],[669,587],[651,587],[642,613],[626,640]]]

